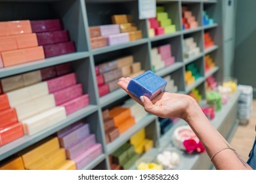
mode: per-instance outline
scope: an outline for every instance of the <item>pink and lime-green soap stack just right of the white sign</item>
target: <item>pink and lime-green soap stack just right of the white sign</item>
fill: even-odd
[[[176,31],[176,26],[172,25],[171,18],[168,18],[168,13],[164,7],[156,7],[156,18],[148,19],[149,37],[155,35],[170,34]]]

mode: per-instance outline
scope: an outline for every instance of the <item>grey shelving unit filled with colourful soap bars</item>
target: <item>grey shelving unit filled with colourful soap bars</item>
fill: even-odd
[[[158,118],[153,115],[146,116],[143,120],[135,124],[133,127],[121,134],[116,141],[106,144],[104,139],[104,125],[102,120],[102,110],[112,106],[117,101],[127,99],[127,93],[118,89],[103,97],[98,96],[98,88],[96,84],[95,65],[110,61],[112,59],[119,58],[121,56],[133,55],[135,61],[140,61],[142,69],[152,69],[151,48],[155,46],[161,46],[163,44],[170,43],[172,45],[172,52],[175,56],[175,63],[169,65],[164,69],[156,72],[160,76],[171,75],[174,79],[175,85],[178,86],[179,93],[189,93],[193,88],[198,88],[200,93],[203,93],[205,97],[205,80],[211,75],[217,77],[217,81],[223,80],[223,8],[222,2],[219,1],[203,1],[203,0],[157,0],[158,5],[165,7],[169,17],[176,25],[177,31],[175,33],[160,35],[156,37],[148,37],[148,24],[147,20],[139,20],[138,14],[138,1],[137,0],[41,0],[39,2],[34,0],[0,0],[0,21],[7,20],[41,20],[49,18],[60,18],[64,24],[64,28],[70,31],[70,38],[75,41],[77,52],[73,54],[67,54],[64,56],[57,56],[54,58],[48,58],[41,61],[34,61],[32,63],[26,63],[22,65],[16,65],[13,67],[6,67],[0,69],[0,79],[7,76],[13,76],[20,73],[26,73],[49,67],[52,65],[58,65],[60,63],[71,62],[72,68],[77,73],[78,80],[83,84],[83,90],[85,93],[89,93],[90,103],[88,107],[85,107],[74,114],[71,114],[58,125],[54,125],[49,129],[45,129],[40,133],[32,136],[24,136],[14,142],[11,142],[0,148],[0,161],[13,154],[16,154],[20,150],[34,144],[35,142],[54,135],[56,131],[77,122],[77,120],[84,119],[85,122],[89,122],[92,133],[96,135],[96,141],[102,144],[103,154],[94,159],[89,165],[83,169],[110,169],[110,163],[108,156],[114,152],[121,144],[128,141],[129,138],[135,134],[142,127],[146,127],[146,136],[148,139],[154,141],[154,148],[148,152],[148,154],[154,154],[158,152],[158,147],[163,146],[163,139],[166,139],[167,135],[171,135],[177,125],[174,125],[166,135],[160,139],[160,130],[158,127]],[[181,7],[182,5],[188,5],[199,23],[199,27],[196,29],[182,30],[181,20]],[[202,25],[202,11],[206,10],[207,13],[215,20],[215,24],[209,26]],[[91,49],[91,43],[89,41],[89,26],[112,24],[111,16],[113,14],[132,14],[133,22],[142,30],[142,39],[125,44],[118,44],[115,46],[106,46],[103,48]],[[215,46],[203,50],[203,33],[209,31],[213,35],[213,41]],[[183,40],[186,37],[194,36],[196,42],[200,46],[200,54],[194,58],[184,59],[183,56]],[[204,56],[211,54],[215,60],[216,67],[204,72]],[[188,63],[198,63],[199,70],[202,77],[196,80],[191,86],[186,86],[184,82],[184,71]],[[238,95],[238,94],[236,94]],[[235,107],[235,101],[232,102],[230,107]],[[224,109],[223,109],[224,110]],[[223,111],[222,110],[222,111]],[[234,112],[233,112],[234,113]],[[232,113],[232,116],[235,114]],[[224,124],[224,117],[228,114],[222,112],[218,118],[215,118],[221,124]],[[217,123],[217,122],[216,122]],[[229,128],[224,131],[221,128],[222,133],[226,134],[230,131]],[[219,128],[218,128],[219,129]],[[227,136],[225,136],[227,137]],[[165,145],[167,145],[165,143]],[[145,156],[148,156],[146,154]],[[199,156],[198,156],[199,158]],[[192,165],[198,161],[195,157],[186,157],[182,159],[183,164],[181,169],[192,169],[191,167],[185,167],[184,165]],[[199,167],[200,168],[200,167]]]

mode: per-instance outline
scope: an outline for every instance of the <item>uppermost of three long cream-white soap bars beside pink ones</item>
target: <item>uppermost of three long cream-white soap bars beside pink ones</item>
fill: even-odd
[[[40,82],[38,84],[33,84],[32,86],[27,86],[7,93],[11,107],[16,107],[20,103],[24,103],[47,94],[49,94],[47,82]]]

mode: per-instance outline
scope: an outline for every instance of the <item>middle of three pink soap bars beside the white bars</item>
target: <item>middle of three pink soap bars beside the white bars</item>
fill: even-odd
[[[83,95],[82,85],[76,84],[74,86],[70,86],[63,90],[59,90],[58,92],[54,92],[53,95],[56,105],[62,105],[63,103],[66,103],[68,101],[71,101],[72,99]]]

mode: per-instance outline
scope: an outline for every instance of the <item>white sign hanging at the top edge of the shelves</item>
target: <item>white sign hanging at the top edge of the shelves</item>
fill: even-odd
[[[156,0],[139,0],[139,19],[156,17]]]

